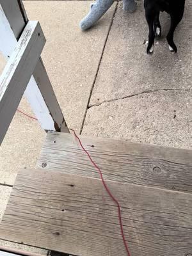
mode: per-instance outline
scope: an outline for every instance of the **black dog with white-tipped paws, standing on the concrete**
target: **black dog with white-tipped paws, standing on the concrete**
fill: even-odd
[[[173,34],[182,20],[184,6],[185,0],[144,0],[145,17],[149,28],[147,54],[152,54],[154,51],[155,36],[161,36],[159,13],[164,11],[169,13],[171,17],[170,31],[166,36],[169,49],[172,52],[177,52],[177,47],[173,42]]]

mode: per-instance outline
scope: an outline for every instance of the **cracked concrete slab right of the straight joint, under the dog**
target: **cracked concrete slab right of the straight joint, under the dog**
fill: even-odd
[[[93,88],[84,135],[122,138],[141,143],[191,148],[192,134],[192,3],[175,32],[178,53],[168,50],[168,15],[161,15],[163,35],[147,56],[143,2],[132,15],[113,20]]]

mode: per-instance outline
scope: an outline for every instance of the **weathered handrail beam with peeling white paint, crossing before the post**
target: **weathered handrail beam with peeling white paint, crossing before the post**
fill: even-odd
[[[28,22],[0,77],[0,144],[45,45],[40,24]]]

